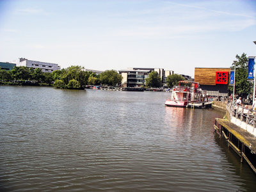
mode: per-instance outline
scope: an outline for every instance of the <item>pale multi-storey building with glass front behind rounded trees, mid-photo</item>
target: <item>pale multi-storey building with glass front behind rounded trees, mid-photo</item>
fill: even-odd
[[[125,70],[119,70],[119,74],[122,75],[122,86],[144,86],[145,79],[152,71],[156,71],[159,74],[161,77],[162,86],[166,86],[167,76],[173,74],[172,70],[164,70],[163,68],[127,68]]]

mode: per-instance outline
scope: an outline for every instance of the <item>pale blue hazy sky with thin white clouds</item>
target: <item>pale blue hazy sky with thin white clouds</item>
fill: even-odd
[[[194,77],[256,56],[256,1],[3,1],[0,61],[95,70],[150,67]]]

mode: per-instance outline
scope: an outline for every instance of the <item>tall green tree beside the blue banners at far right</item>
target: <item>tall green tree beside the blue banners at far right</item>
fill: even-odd
[[[235,85],[235,93],[246,97],[250,92],[252,92],[253,83],[247,81],[248,75],[248,58],[246,54],[243,53],[241,56],[236,55],[237,63],[236,63],[236,85]],[[234,66],[232,66],[234,70]],[[233,92],[233,86],[229,86],[229,89]]]

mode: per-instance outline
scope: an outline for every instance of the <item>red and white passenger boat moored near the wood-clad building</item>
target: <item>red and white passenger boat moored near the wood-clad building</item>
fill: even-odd
[[[179,81],[179,86],[172,88],[171,97],[165,101],[165,106],[186,108],[191,103],[198,103],[202,99],[199,83],[194,81]]]

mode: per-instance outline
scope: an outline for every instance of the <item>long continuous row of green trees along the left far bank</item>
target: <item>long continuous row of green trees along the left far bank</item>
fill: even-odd
[[[53,72],[42,72],[41,68],[13,67],[12,70],[0,68],[0,79],[6,84],[35,84],[56,86],[57,88],[83,89],[90,84],[116,86],[121,83],[122,76],[115,70],[106,70],[96,75],[85,71],[83,67],[71,66]]]

